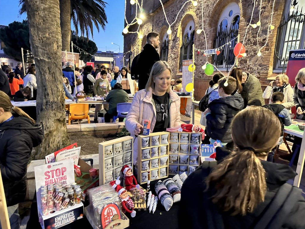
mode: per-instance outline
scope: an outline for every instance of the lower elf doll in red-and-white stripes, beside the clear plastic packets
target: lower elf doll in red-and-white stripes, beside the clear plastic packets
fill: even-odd
[[[120,178],[120,177],[118,177]],[[136,211],[134,210],[134,202],[127,194],[127,190],[120,186],[120,180],[113,180],[110,182],[110,185],[115,189],[118,193],[120,200],[122,201],[122,210],[124,213],[130,213],[131,217],[135,217]]]

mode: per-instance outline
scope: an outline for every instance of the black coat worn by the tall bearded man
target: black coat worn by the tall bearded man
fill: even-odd
[[[157,50],[150,44],[144,45],[143,51],[140,53],[140,63],[138,63],[138,66],[140,66],[139,72],[142,72],[139,75],[139,90],[145,89],[152,65],[159,60],[160,56]]]

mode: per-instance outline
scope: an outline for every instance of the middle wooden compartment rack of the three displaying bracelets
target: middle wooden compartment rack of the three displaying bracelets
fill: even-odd
[[[161,135],[166,135],[167,134],[167,144],[161,144]],[[154,136],[159,136],[159,145],[152,145],[152,137]],[[145,184],[147,183],[147,179],[146,180],[143,180],[142,179],[142,176],[145,177],[146,174],[148,173],[148,171],[150,171],[150,181],[152,180],[159,180],[161,178],[166,178],[168,177],[168,159],[167,159],[167,162],[165,165],[163,166],[160,166],[160,160],[162,160],[162,158],[164,157],[168,157],[169,156],[169,132],[156,132],[156,133],[150,133],[149,135],[139,135],[138,136],[138,182],[139,184]],[[142,139],[143,138],[149,138],[149,144],[148,144],[148,147],[142,147]],[[155,156],[155,157],[151,157],[152,156],[152,148],[156,148],[158,147],[158,156]],[[164,155],[160,156],[160,149],[161,147],[166,147],[166,152]],[[143,150],[149,150],[149,156],[150,158],[143,158],[142,157],[142,153],[143,153]],[[149,164],[149,169],[146,169],[146,170],[143,170],[142,171],[142,162],[147,162],[148,161],[148,164]],[[152,161],[158,161],[158,167],[157,168],[153,168],[152,167]],[[160,169],[163,169],[165,168],[165,175],[163,176],[161,174],[160,176]],[[152,177],[152,171],[154,170],[157,170],[158,172],[158,177],[156,178],[153,178]],[[164,171],[164,169],[163,169]]]

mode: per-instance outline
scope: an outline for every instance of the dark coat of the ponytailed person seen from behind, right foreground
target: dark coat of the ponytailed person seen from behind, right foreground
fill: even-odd
[[[216,159],[221,160],[227,152],[224,147],[216,148]],[[221,154],[221,155],[219,155]],[[245,216],[231,216],[228,212],[222,212],[211,201],[215,191],[205,192],[204,179],[209,175],[210,169],[199,166],[183,183],[181,188],[181,205],[179,209],[179,228],[206,228],[206,229],[250,229],[260,219],[260,214],[274,198],[278,189],[287,180],[293,179],[296,173],[288,166],[273,162],[261,161],[266,171],[267,192],[265,201],[260,203],[253,213]],[[213,189],[213,187],[211,187]],[[304,229],[305,228],[305,200],[299,196],[291,212],[281,228],[278,229]],[[186,220],[187,219],[187,220]]]

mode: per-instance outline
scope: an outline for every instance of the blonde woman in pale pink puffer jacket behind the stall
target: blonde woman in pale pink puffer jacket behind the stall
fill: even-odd
[[[143,131],[144,119],[150,120],[149,132],[165,131],[180,125],[180,98],[170,87],[171,68],[166,61],[152,66],[146,88],[138,91],[131,103],[125,126],[134,136],[133,163],[138,160],[138,140]]]

